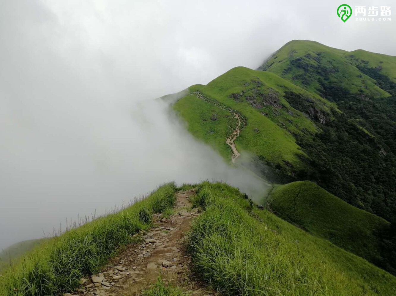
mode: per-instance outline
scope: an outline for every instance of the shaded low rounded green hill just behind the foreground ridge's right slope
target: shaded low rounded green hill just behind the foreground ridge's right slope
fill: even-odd
[[[389,228],[384,219],[351,206],[309,181],[276,185],[267,200],[276,215],[315,236],[383,267],[378,235]],[[384,264],[385,263],[385,264]]]

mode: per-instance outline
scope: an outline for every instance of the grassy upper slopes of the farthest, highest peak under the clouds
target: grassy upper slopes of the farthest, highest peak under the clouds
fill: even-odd
[[[351,62],[350,55],[372,58],[373,56],[385,60],[389,57],[392,64],[386,64],[385,72],[394,73],[395,57],[362,53],[328,47],[316,41],[292,40],[281,47],[269,60],[260,67],[292,81],[310,92],[320,93],[322,86],[320,79],[331,85],[342,85],[352,93],[363,93],[372,96],[389,96],[385,90],[376,85],[376,81],[362,74],[356,64]],[[388,59],[385,60],[386,62]],[[383,64],[385,65],[385,63]],[[394,74],[393,74],[394,75]]]

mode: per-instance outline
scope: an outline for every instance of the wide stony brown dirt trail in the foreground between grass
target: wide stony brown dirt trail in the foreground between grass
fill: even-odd
[[[190,258],[185,253],[183,241],[191,219],[200,215],[198,209],[186,211],[191,207],[189,198],[194,194],[194,191],[178,192],[174,215],[165,219],[161,214],[155,214],[158,226],[143,234],[142,243],[127,245],[101,273],[95,275],[97,278],[91,277],[84,283],[85,288],[66,296],[139,295],[142,289],[156,281],[160,273],[165,282],[183,287],[187,294],[217,295],[190,279]]]

